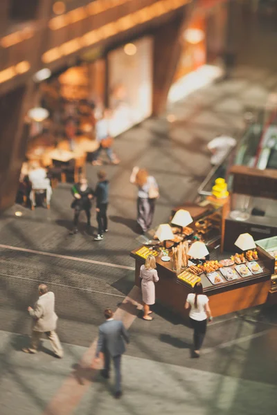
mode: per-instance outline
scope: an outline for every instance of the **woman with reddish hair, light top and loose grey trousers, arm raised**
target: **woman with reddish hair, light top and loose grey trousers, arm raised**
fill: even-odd
[[[148,171],[134,167],[130,182],[138,187],[137,222],[142,233],[147,232],[152,225],[156,200],[159,197],[159,186]]]

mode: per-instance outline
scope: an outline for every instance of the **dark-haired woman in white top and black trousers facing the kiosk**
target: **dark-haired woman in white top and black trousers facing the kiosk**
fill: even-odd
[[[193,326],[193,343],[195,357],[199,358],[199,351],[206,334],[207,318],[212,320],[211,310],[208,306],[208,297],[203,294],[201,282],[197,282],[194,293],[188,294],[185,308],[190,308],[190,323]]]

